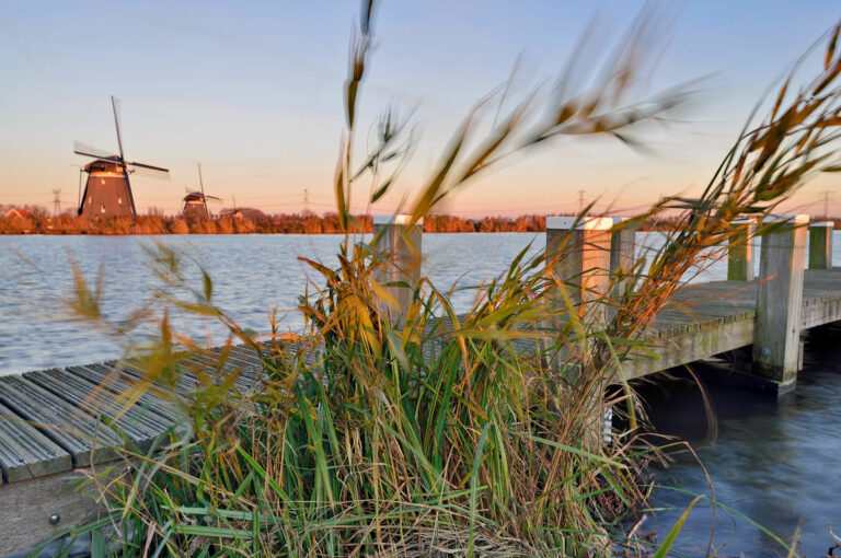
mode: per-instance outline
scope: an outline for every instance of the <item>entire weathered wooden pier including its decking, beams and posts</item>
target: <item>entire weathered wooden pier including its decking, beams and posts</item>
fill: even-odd
[[[607,220],[599,221],[585,225],[579,234],[581,246],[589,247],[583,247],[575,259],[578,274],[587,272],[588,261],[615,267],[627,255],[627,232],[611,239]],[[551,224],[554,230],[548,231],[548,249],[553,249],[557,230],[575,226],[568,221]],[[841,321],[841,268],[832,267],[831,246],[819,245],[831,242],[831,226],[816,226],[823,229],[807,235],[806,224],[792,220],[791,226],[763,236],[757,278],[751,277],[751,251],[734,246],[728,271],[733,279],[681,289],[654,321],[649,340],[657,358],[624,362],[624,375],[641,377],[752,346],[757,367],[752,372],[772,387],[791,388],[802,362],[802,333]],[[395,232],[388,239],[399,243],[415,231],[410,233],[401,236]],[[607,236],[600,236],[602,233]],[[809,269],[804,266],[807,236],[810,252],[819,254],[810,259],[815,265]],[[622,251],[621,257],[617,251]],[[586,303],[586,292],[578,300]],[[198,357],[185,363],[207,367]],[[226,367],[240,371],[243,391],[258,387],[264,377],[257,356],[243,347],[232,351]],[[0,376],[0,518],[5,520],[0,530],[0,556],[28,548],[94,511],[92,499],[68,487],[76,469],[106,467],[117,458],[114,450],[93,442],[123,444],[103,417],[113,420],[141,450],[149,449],[161,433],[180,428],[177,414],[152,393],[122,412],[119,395],[141,374],[130,365],[110,362]],[[194,380],[186,374],[180,390],[189,392]]]

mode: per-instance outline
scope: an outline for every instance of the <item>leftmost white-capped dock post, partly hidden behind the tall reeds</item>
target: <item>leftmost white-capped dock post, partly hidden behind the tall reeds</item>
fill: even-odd
[[[413,291],[420,280],[424,220],[412,223],[412,216],[398,213],[373,216],[375,248],[388,263],[380,267],[375,280],[394,298],[396,307],[380,301],[380,309],[392,323],[402,322],[412,302]],[[392,283],[392,284],[389,284]],[[403,283],[403,284],[393,284]]]

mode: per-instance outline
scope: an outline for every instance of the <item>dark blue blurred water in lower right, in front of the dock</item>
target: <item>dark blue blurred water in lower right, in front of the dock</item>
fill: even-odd
[[[841,330],[834,333],[836,339]],[[690,381],[658,382],[644,392],[658,432],[691,442],[706,467],[715,498],[791,543],[800,530],[800,556],[826,556],[832,546],[829,522],[841,534],[841,349],[807,344],[805,369],[797,390],[776,400],[771,396],[707,385],[715,411],[717,437],[707,435],[704,403]],[[676,455],[657,481],[710,495],[698,461],[688,452]],[[692,496],[670,489],[655,492],[663,508],[641,531],[657,531],[660,540]],[[713,516],[699,504],[690,515],[678,547],[691,556],[706,550]],[[745,519],[721,510],[714,547],[719,556],[786,556],[785,549]],[[838,553],[837,553],[838,554]]]

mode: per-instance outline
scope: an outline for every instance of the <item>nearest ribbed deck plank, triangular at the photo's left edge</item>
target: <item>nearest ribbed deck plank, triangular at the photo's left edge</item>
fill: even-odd
[[[60,473],[72,467],[70,454],[0,405],[0,468],[5,483]]]

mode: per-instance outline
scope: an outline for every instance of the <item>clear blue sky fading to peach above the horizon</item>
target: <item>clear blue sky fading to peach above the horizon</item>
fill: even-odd
[[[412,113],[419,139],[393,193],[411,198],[474,103],[517,66],[511,103],[552,83],[590,30],[585,69],[597,68],[644,3],[621,1],[384,0],[361,89],[356,155],[384,106]],[[564,138],[512,156],[442,208],[464,217],[576,210],[629,213],[660,196],[698,191],[753,106],[841,18],[837,0],[670,1],[653,4],[657,45],[633,93],[681,85],[691,102],[666,123],[634,130],[644,151],[612,138]],[[120,100],[126,158],[170,168],[136,177],[138,210],[175,212],[200,162],[211,210],[334,208],[344,128],[343,83],[357,1],[0,0],[0,205],[65,208],[78,198],[73,140],[116,151],[110,95]],[[822,45],[821,45],[822,47]],[[517,62],[518,60],[519,63]],[[596,74],[596,72],[591,72]],[[511,105],[512,106],[512,105]],[[493,116],[493,115],[492,115]],[[493,118],[488,117],[489,120]],[[792,210],[841,213],[838,178],[808,184]],[[353,209],[367,210],[369,184]]]

